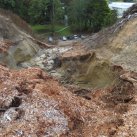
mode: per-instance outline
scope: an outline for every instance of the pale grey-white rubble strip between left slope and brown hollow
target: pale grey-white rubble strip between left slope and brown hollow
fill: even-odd
[[[71,49],[72,47],[54,47],[50,49],[42,49],[37,53],[36,57],[32,58],[29,62],[21,63],[20,66],[24,68],[37,66],[43,70],[52,71],[55,69],[54,60]]]

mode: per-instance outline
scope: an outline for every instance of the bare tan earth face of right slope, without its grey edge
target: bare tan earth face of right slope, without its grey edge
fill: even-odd
[[[110,46],[117,53],[112,61],[125,69],[137,71],[137,19],[128,21]]]

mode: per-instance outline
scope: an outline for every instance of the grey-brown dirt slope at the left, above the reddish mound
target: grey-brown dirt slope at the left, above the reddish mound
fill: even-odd
[[[15,68],[18,63],[33,57],[39,46],[21,29],[21,24],[25,27],[23,20],[16,16],[11,20],[11,13],[5,14],[0,10],[0,62]]]

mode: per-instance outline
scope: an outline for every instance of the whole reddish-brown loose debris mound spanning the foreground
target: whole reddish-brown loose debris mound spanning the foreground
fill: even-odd
[[[136,76],[86,92],[63,88],[37,68],[0,66],[0,136],[136,136]]]

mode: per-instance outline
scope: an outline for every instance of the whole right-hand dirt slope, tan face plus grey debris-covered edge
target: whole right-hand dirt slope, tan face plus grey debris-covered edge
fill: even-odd
[[[115,25],[82,42],[96,50],[99,57],[108,59],[125,69],[137,71],[137,5],[131,7]]]

